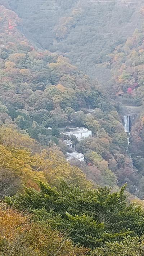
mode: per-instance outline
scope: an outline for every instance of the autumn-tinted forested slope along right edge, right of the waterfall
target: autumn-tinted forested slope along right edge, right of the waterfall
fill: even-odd
[[[141,8],[144,20],[144,8]],[[144,172],[144,25],[107,55],[111,67],[111,80],[107,88],[118,102],[129,105],[131,115],[138,110],[131,131],[130,151],[135,167],[139,170],[140,187]],[[107,64],[105,64],[107,65]],[[141,194],[144,196],[144,194]]]

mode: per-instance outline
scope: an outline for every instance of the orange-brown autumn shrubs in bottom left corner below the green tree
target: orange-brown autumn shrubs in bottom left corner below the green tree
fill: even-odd
[[[0,253],[4,255],[82,256],[87,249],[74,247],[69,238],[52,231],[43,223],[34,223],[6,205],[0,207]]]

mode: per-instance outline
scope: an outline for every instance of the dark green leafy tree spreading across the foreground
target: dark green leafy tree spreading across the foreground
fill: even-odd
[[[42,182],[39,186],[40,191],[26,188],[5,202],[63,230],[75,244],[106,248],[107,242],[122,242],[127,235],[140,238],[144,232],[144,211],[127,203],[125,188],[111,193],[107,188],[81,190],[64,182],[58,188]]]

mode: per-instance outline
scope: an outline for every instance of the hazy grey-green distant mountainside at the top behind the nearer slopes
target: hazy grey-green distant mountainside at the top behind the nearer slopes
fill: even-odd
[[[111,76],[105,55],[125,42],[143,22],[143,1],[8,1],[23,19],[22,31],[41,49],[62,53],[92,78]],[[104,77],[105,76],[105,77]]]

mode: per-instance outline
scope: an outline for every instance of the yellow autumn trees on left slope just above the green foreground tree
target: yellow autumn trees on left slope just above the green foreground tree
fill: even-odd
[[[38,180],[54,186],[60,179],[81,188],[92,186],[80,169],[49,148],[16,130],[0,128],[0,198],[22,191],[23,185],[38,189]]]

